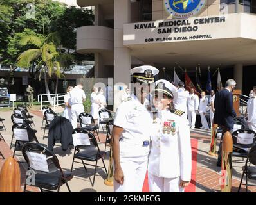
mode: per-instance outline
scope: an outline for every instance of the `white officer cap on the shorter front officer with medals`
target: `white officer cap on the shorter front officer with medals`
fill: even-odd
[[[178,98],[178,90],[176,86],[174,86],[172,83],[170,83],[165,79],[160,79],[156,81],[154,93],[156,92],[161,92],[163,94],[166,94],[169,97],[172,97],[174,101],[176,101]]]

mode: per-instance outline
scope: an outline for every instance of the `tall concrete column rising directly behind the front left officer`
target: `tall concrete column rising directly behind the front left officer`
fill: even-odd
[[[131,80],[131,53],[127,47],[123,46],[123,24],[130,21],[130,1],[114,0],[114,111],[121,103],[123,90],[120,89],[129,86]]]

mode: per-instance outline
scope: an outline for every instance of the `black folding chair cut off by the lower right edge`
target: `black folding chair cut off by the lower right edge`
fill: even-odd
[[[254,165],[254,166],[251,166]],[[248,157],[246,160],[245,165],[242,167],[242,178],[239,184],[239,188],[238,188],[238,192],[240,192],[241,189],[241,185],[245,185],[246,186],[246,192],[248,191],[248,186],[255,186],[252,184],[248,184],[248,179],[253,179],[256,180],[256,145],[254,145],[253,147],[251,147],[249,153],[248,153]],[[244,179],[244,174],[245,174],[245,184],[242,184],[242,179]]]

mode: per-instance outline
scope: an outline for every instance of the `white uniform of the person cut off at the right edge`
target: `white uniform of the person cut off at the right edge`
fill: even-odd
[[[248,126],[256,132],[256,96],[248,99],[247,102]]]

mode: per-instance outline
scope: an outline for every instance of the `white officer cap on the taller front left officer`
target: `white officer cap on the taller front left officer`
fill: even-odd
[[[142,65],[130,70],[133,83],[154,83],[154,76],[159,70],[151,65]]]

